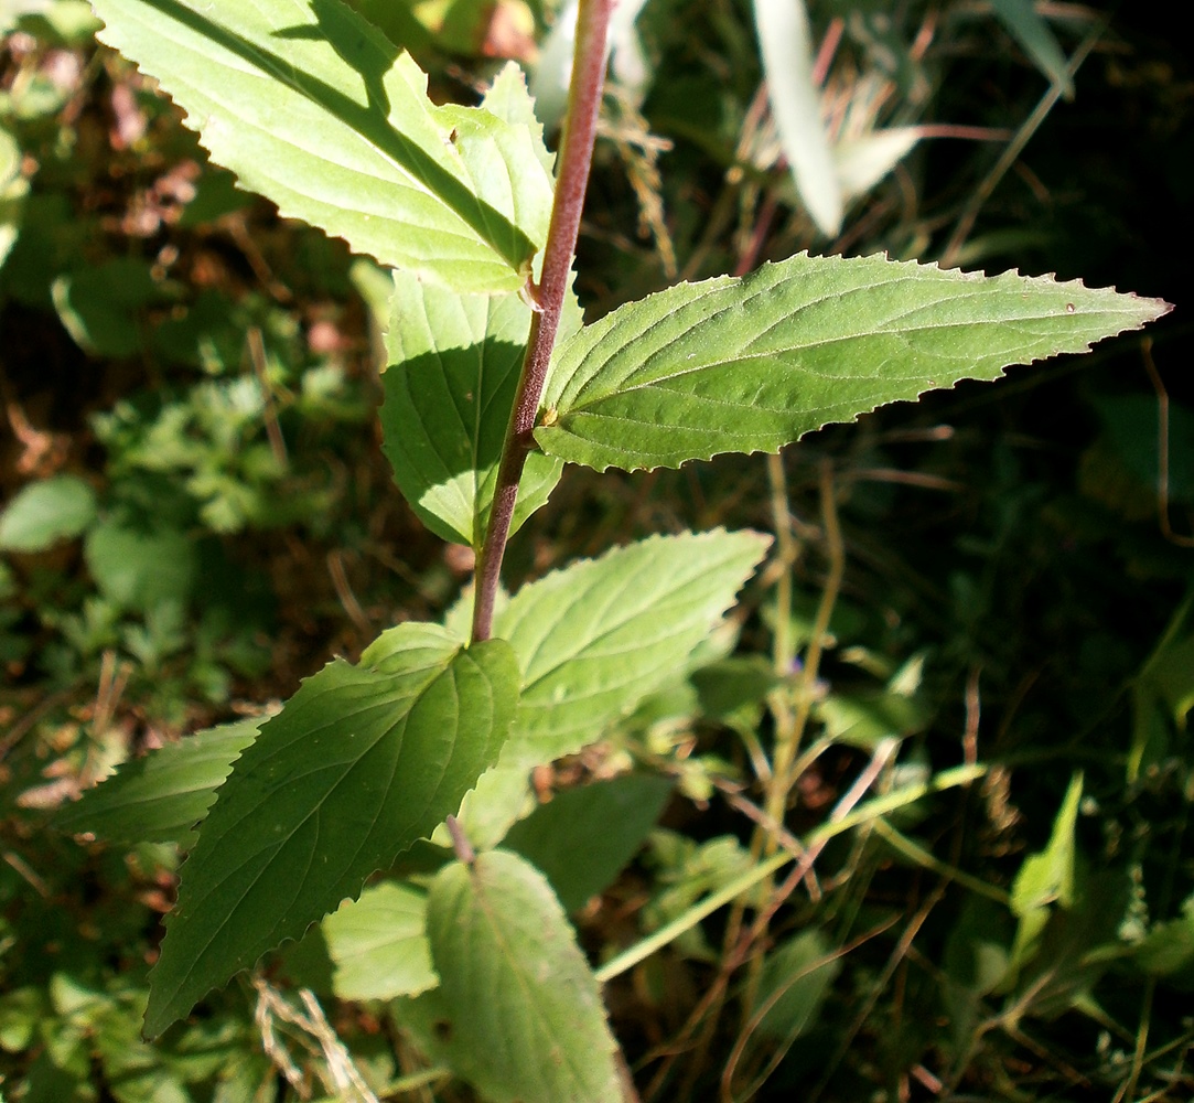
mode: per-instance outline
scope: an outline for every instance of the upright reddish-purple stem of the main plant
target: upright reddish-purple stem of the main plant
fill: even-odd
[[[568,274],[580,232],[580,213],[585,206],[585,188],[592,165],[593,141],[597,136],[597,114],[601,109],[602,85],[605,78],[605,32],[614,0],[580,0],[577,13],[576,50],[572,60],[572,85],[568,108],[564,117],[560,141],[560,174],[555,184],[552,222],[543,251],[543,270],[538,287],[529,290],[535,302],[531,315],[527,356],[515,397],[506,439],[501,446],[501,462],[493,494],[493,508],[485,531],[476,564],[476,598],[473,605],[473,642],[488,639],[493,630],[493,602],[501,577],[501,559],[510,538],[518,480],[522,478],[527,454],[534,447],[533,433],[538,402],[547,380],[547,368],[560,327],[564,296],[568,289]]]

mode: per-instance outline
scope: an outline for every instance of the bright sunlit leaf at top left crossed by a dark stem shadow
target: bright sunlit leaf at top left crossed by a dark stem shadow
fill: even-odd
[[[436,106],[426,75],[340,0],[94,0],[240,183],[382,264],[513,290],[552,180],[523,123]]]

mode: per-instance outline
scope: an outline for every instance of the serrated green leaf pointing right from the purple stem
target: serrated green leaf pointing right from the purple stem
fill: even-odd
[[[1168,310],[1050,276],[801,253],[585,326],[558,349],[535,439],[598,470],[774,452],[885,403],[1085,351]]]

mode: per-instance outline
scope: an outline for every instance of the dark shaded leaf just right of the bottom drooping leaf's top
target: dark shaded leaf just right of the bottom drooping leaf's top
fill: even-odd
[[[538,869],[574,912],[634,857],[672,788],[669,778],[629,773],[565,790],[511,827],[501,846]]]

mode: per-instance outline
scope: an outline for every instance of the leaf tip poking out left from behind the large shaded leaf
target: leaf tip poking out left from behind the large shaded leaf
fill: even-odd
[[[54,820],[60,831],[91,832],[110,842],[195,842],[236,756],[257,739],[261,717],[196,731],[119,766]]]

